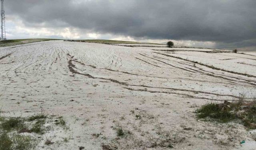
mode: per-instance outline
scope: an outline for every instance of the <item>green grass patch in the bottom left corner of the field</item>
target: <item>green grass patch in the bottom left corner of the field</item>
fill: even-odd
[[[46,114],[35,114],[28,117],[5,117],[0,114],[0,150],[32,150],[38,140],[34,136],[22,133],[36,133],[43,135],[49,128],[44,127],[46,120],[50,120]],[[56,123],[68,128],[63,117]],[[33,134],[32,134],[33,135]]]

